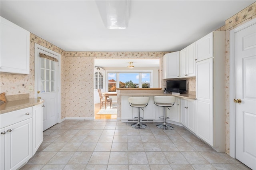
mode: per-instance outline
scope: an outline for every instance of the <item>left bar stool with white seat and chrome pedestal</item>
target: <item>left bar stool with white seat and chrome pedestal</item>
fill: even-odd
[[[146,128],[147,127],[146,124],[140,123],[140,119],[143,119],[143,117],[140,117],[140,109],[148,105],[149,97],[129,97],[128,101],[131,107],[138,108],[138,117],[133,118],[133,119],[138,119],[138,122],[132,123],[131,127],[138,128],[138,129]]]

